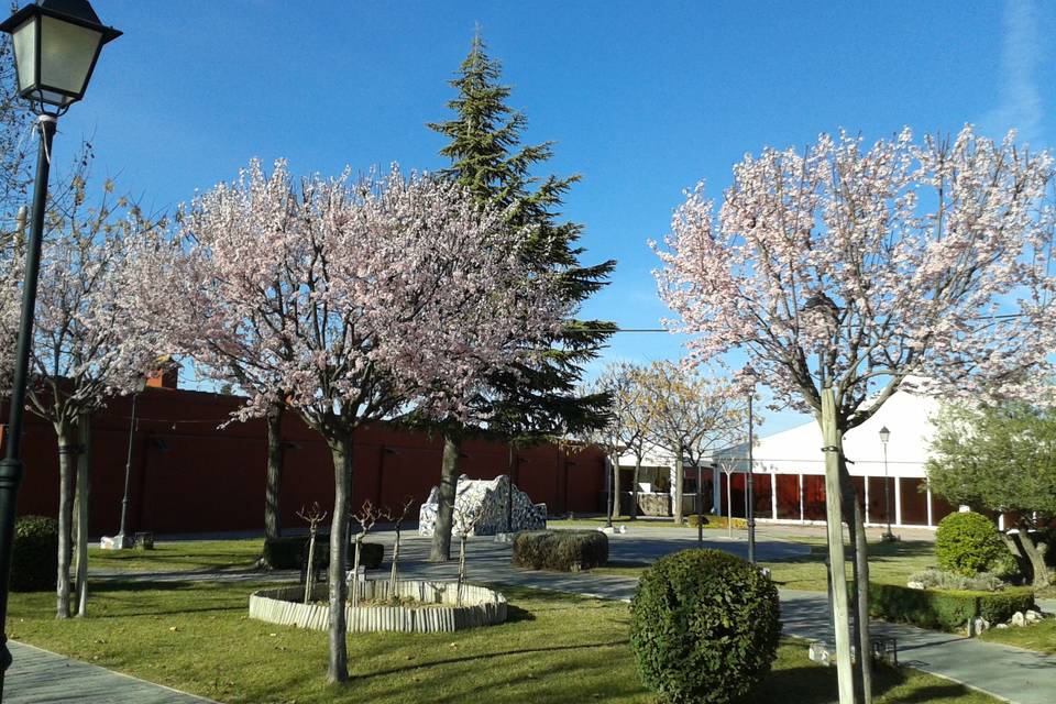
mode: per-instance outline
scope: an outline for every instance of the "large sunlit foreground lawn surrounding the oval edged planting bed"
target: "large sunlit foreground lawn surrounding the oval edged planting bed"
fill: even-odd
[[[628,646],[628,606],[501,587],[508,623],[447,635],[349,637],[353,680],[327,688],[327,636],[246,618],[263,584],[96,583],[85,619],[57,622],[51,593],[13,594],[12,638],[221,702],[620,702],[652,696]],[[787,640],[752,698],[822,704],[835,670]],[[883,669],[879,703],[989,704],[994,700],[913,670]]]

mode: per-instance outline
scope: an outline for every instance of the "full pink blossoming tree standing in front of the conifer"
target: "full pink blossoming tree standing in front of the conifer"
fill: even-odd
[[[196,198],[179,235],[144,251],[140,300],[179,351],[248,395],[241,417],[283,402],[331,449],[328,679],[344,681],[353,431],[411,406],[462,417],[564,311],[524,270],[503,213],[395,168],[295,184],[283,162],[271,174],[254,162]]]

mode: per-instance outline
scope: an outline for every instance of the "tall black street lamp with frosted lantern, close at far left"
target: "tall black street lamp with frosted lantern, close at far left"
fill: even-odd
[[[33,105],[41,144],[33,190],[33,220],[25,248],[25,275],[22,282],[22,314],[15,351],[11,389],[7,454],[0,461],[0,697],[3,673],[11,664],[8,650],[8,581],[11,575],[11,543],[14,538],[14,510],[22,483],[22,416],[29,380],[33,311],[36,305],[36,277],[41,262],[44,208],[52,139],[59,116],[80,100],[96,67],[99,51],[121,32],[99,22],[87,0],[42,0],[30,4],[0,24],[11,34],[19,95]]]

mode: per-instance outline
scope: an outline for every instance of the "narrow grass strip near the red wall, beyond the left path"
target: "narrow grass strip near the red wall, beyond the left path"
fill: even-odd
[[[153,550],[88,549],[94,570],[190,572],[251,569],[264,552],[264,540],[182,540],[155,542]]]

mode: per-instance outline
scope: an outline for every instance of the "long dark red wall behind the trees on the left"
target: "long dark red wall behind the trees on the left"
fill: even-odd
[[[263,530],[266,428],[261,420],[231,422],[233,396],[147,388],[136,406],[130,474],[130,529],[155,532]],[[129,447],[131,398],[112,399],[92,424],[89,532],[114,535]],[[283,424],[286,465],[283,525],[298,527],[296,512],[311,502],[332,510],[333,464],[322,438],[296,414]],[[58,453],[51,425],[28,415],[25,479],[18,513],[55,516]],[[372,424],[355,435],[353,506],[364,499],[396,507],[414,496],[413,517],[439,481],[442,443],[424,433]],[[506,474],[509,449],[486,439],[463,443],[463,472],[471,479]],[[597,510],[604,491],[604,457],[596,448],[575,452],[554,446],[518,449],[515,483],[551,515]]]

